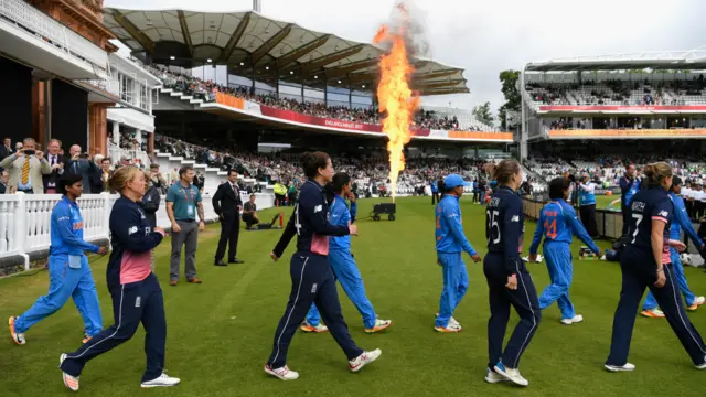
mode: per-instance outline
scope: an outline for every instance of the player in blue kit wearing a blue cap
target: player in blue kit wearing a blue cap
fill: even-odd
[[[481,260],[463,234],[459,200],[463,187],[469,185],[458,174],[447,175],[439,182],[443,196],[436,207],[436,249],[437,261],[443,269],[443,290],[434,325],[438,332],[461,331],[461,325],[453,319],[453,311],[468,290],[468,270],[461,254],[468,253],[474,262]]]

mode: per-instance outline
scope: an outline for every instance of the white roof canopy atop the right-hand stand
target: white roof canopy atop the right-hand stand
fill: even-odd
[[[576,56],[531,62],[526,72],[578,72],[622,69],[706,71],[706,49]]]

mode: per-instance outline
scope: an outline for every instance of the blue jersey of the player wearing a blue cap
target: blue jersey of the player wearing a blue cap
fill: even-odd
[[[463,234],[459,197],[454,195],[447,194],[437,204],[435,235],[438,253],[467,251],[471,256],[475,255],[475,249]]]

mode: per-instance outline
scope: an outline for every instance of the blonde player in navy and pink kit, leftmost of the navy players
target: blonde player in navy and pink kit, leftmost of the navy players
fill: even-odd
[[[141,200],[147,187],[142,171],[124,167],[110,176],[108,185],[111,191],[120,192],[110,211],[113,251],[106,269],[116,323],[76,352],[61,355],[64,385],[77,391],[78,377],[86,363],[129,341],[142,323],[147,369],[141,387],[175,386],[180,379],[164,374],[164,299],[150,260],[150,251],[164,238],[164,229],[152,229],[142,211]]]

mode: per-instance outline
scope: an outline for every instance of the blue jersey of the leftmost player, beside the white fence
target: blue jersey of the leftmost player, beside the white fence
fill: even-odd
[[[50,255],[83,255],[98,253],[99,247],[84,240],[84,219],[78,204],[62,196],[52,211]]]

